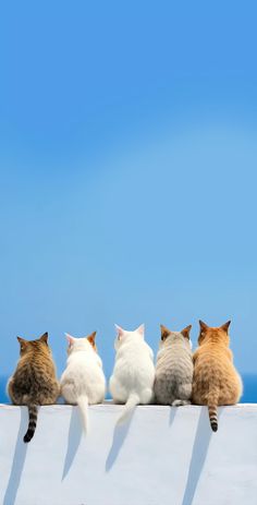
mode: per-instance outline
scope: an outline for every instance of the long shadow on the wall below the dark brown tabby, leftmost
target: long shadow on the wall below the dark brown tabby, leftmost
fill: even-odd
[[[21,407],[21,421],[14,449],[12,469],[8,481],[8,486],[3,497],[2,505],[11,505],[15,503],[24,462],[26,459],[27,444],[23,442],[23,437],[27,431],[28,416],[27,408]]]

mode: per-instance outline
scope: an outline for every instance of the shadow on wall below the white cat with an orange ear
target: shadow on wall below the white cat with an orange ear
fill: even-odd
[[[72,407],[71,421],[68,435],[66,455],[62,472],[62,481],[69,473],[74,461],[82,438],[82,422],[77,407]]]

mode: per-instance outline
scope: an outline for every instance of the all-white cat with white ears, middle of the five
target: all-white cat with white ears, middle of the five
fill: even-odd
[[[139,404],[147,405],[154,398],[154,353],[144,339],[145,327],[127,332],[115,325],[115,364],[109,388],[115,404],[125,404],[118,424],[124,422]]]

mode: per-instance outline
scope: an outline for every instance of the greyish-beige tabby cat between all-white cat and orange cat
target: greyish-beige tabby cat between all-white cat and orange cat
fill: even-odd
[[[181,332],[170,332],[161,325],[154,386],[158,404],[175,407],[191,404],[193,381],[191,328],[192,326],[186,326]]]

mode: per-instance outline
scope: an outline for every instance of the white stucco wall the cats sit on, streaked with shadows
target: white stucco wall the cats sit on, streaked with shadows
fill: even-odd
[[[27,409],[0,406],[1,505],[256,505],[257,405],[219,409],[210,431],[201,407],[41,407],[25,445]]]

